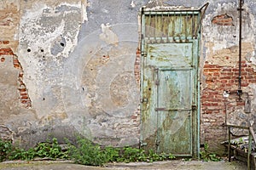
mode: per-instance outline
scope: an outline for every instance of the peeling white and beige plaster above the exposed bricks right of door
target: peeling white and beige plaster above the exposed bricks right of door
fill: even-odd
[[[245,61],[245,65],[253,68],[255,73],[255,3],[245,3],[242,8],[242,36],[241,36],[241,60]],[[222,67],[238,68],[238,42],[239,42],[239,13],[237,12],[237,3],[216,3],[216,8],[210,14],[206,14],[205,20],[202,22],[202,42],[203,59],[201,64],[207,61],[209,65],[219,65]],[[218,14],[228,14],[232,17],[232,26],[218,26],[212,24],[212,18]],[[245,78],[246,79],[246,78]],[[201,82],[204,82],[205,77],[201,77]],[[202,83],[202,88],[206,83]],[[237,88],[237,83],[234,83],[232,89]],[[225,89],[224,89],[225,90]],[[231,90],[231,89],[227,89]],[[250,87],[242,88],[249,95],[252,95],[255,89]],[[255,96],[252,95],[253,100]],[[252,102],[253,103],[253,102]],[[253,111],[252,111],[253,112]],[[236,122],[239,124],[239,122]]]

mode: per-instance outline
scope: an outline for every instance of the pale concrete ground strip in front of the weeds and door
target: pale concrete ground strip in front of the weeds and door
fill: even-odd
[[[132,169],[170,169],[170,170],[243,170],[247,169],[241,161],[154,161],[132,163],[109,163],[104,167],[89,167],[73,164],[70,161],[6,161],[0,163],[2,170],[132,170]]]

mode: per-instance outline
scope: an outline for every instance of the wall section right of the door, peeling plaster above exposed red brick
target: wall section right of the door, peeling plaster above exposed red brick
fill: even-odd
[[[202,21],[201,47],[201,142],[219,150],[227,139],[225,123],[255,127],[255,2],[245,1],[241,33],[241,100],[238,89],[239,13],[235,1],[211,5]],[[213,19],[228,16],[231,21],[216,24]],[[226,18],[227,19],[227,18]],[[224,21],[224,20],[223,20]],[[230,24],[229,24],[230,22]],[[224,97],[223,93],[230,93]],[[211,97],[210,97],[211,96]],[[245,111],[246,99],[251,111]],[[234,135],[247,134],[232,129]],[[221,136],[221,137],[220,137]],[[214,139],[217,139],[214,141]],[[218,142],[216,142],[218,141]],[[223,149],[220,149],[223,150]]]

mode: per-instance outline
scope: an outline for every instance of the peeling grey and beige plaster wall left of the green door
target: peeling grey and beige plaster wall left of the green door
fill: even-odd
[[[80,133],[100,144],[137,144],[139,84],[134,63],[139,7],[134,9],[131,23],[119,24],[120,20],[112,20],[112,16],[106,20],[107,15],[104,20],[89,22],[87,9],[98,10],[92,6],[96,2],[13,2],[16,32],[7,34],[9,39],[17,38],[18,46],[15,54],[1,59],[3,71],[8,71],[12,80],[3,79],[8,86],[6,93],[12,93],[3,102],[7,107],[3,108],[5,119],[1,122],[9,129],[8,135],[12,132],[9,139],[18,139],[29,147],[53,136],[75,139]],[[13,2],[5,3],[12,6]],[[109,8],[108,3],[104,8]],[[127,5],[126,14],[133,10],[130,2],[111,4],[117,4],[117,8]],[[108,10],[102,12],[108,14]],[[114,13],[119,18],[118,11]],[[95,22],[100,25],[93,31],[84,29]],[[17,76],[20,72],[14,62],[22,77]],[[19,80],[26,85],[30,108],[19,104]],[[13,107],[15,111],[11,111]]]

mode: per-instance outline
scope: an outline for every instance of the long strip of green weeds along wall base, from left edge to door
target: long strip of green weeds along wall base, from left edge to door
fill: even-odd
[[[73,145],[67,142],[67,151],[61,150],[61,146],[57,139],[53,138],[47,142],[40,143],[36,147],[29,150],[20,149],[10,141],[0,139],[0,161],[7,160],[26,160],[30,161],[35,158],[45,158],[55,160],[57,158],[70,159],[75,163],[102,166],[107,162],[123,161],[164,161],[174,159],[175,156],[156,154],[154,150],[149,150],[148,154],[145,150],[126,146],[122,149],[107,146],[101,148],[98,144],[93,144],[88,139],[78,139],[77,144]]]

